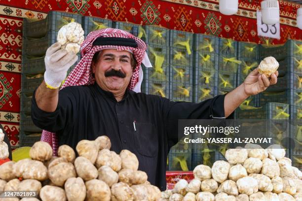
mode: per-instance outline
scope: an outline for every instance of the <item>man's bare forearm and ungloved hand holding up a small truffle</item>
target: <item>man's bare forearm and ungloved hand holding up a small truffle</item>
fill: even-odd
[[[244,80],[244,82],[227,93],[225,97],[225,116],[228,117],[244,100],[249,96],[259,94],[267,89],[270,85],[277,83],[278,71],[270,75],[268,79],[264,74],[254,69]]]

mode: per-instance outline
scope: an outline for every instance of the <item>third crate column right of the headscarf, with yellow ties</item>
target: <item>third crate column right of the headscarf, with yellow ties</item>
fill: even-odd
[[[217,96],[219,38],[201,33],[193,39],[193,100]]]

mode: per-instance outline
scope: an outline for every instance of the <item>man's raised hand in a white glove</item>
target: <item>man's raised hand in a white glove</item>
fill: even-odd
[[[48,88],[57,89],[66,78],[68,69],[77,61],[75,53],[60,49],[60,43],[51,45],[45,55],[44,81]]]

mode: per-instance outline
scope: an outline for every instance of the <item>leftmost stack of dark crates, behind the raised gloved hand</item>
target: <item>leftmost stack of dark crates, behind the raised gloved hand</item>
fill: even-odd
[[[34,90],[43,80],[45,71],[44,57],[47,48],[56,42],[59,29],[71,21],[81,23],[81,16],[72,13],[51,11],[48,13],[46,19],[40,21],[31,22],[24,19],[20,146],[31,146],[35,141],[39,140],[41,129],[36,127],[32,122],[31,99]]]

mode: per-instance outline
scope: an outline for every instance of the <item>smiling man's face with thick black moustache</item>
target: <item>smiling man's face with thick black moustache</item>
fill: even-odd
[[[116,49],[102,50],[97,64],[92,64],[95,80],[105,91],[126,90],[132,76],[131,53]]]

